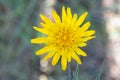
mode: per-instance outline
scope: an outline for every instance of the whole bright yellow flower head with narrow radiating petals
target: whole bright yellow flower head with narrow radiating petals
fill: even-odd
[[[32,39],[31,43],[45,43],[45,47],[36,51],[36,55],[47,52],[43,60],[52,58],[52,65],[56,65],[61,59],[62,70],[66,70],[67,63],[71,62],[71,59],[81,64],[79,56],[87,56],[87,54],[80,48],[86,46],[88,40],[95,38],[93,36],[95,30],[88,30],[90,22],[82,25],[87,15],[88,12],[85,12],[77,19],[77,14],[72,15],[71,9],[68,7],[65,10],[64,6],[62,7],[62,18],[52,11],[54,21],[40,14],[43,21],[40,22],[42,27],[34,26],[33,28],[46,36]]]

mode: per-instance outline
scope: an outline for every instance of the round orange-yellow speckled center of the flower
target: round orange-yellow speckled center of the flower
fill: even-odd
[[[73,31],[62,29],[56,33],[54,39],[57,46],[59,45],[61,48],[66,48],[74,43],[75,36]]]

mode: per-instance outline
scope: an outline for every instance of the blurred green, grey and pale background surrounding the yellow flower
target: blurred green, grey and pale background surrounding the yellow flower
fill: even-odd
[[[42,61],[34,54],[41,46],[30,44],[42,36],[32,28],[40,26],[39,13],[51,18],[54,9],[61,15],[63,5],[79,16],[88,11],[86,21],[96,30],[79,71],[72,61],[71,76],[60,64]],[[0,0],[0,80],[120,80],[119,37],[120,0]]]

